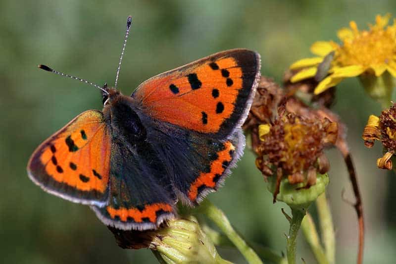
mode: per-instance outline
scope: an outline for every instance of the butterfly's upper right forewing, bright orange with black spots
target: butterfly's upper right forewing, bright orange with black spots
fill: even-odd
[[[228,137],[246,119],[260,77],[260,55],[236,49],[154,76],[133,93],[150,117]]]

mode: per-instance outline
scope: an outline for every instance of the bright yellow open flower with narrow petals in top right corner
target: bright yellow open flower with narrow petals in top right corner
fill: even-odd
[[[313,78],[319,64],[332,52],[334,57],[327,70],[328,76],[320,80],[314,91],[316,95],[345,78],[362,73],[378,77],[388,71],[396,77],[396,19],[391,26],[388,25],[390,17],[390,14],[377,15],[376,24],[369,25],[369,30],[361,31],[354,21],[350,21],[350,28],[338,31],[341,45],[333,41],[315,42],[311,52],[316,57],[300,59],[290,66],[292,70],[300,70],[292,77],[292,83]]]

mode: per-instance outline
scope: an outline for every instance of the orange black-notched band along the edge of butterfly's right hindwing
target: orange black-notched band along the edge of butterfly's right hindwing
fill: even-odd
[[[195,182],[191,184],[188,193],[191,201],[195,202],[198,194],[205,188],[214,188],[219,178],[229,166],[235,147],[230,141],[224,143],[224,147],[224,150],[217,153],[218,158],[210,163],[210,171],[208,173],[201,172]]]

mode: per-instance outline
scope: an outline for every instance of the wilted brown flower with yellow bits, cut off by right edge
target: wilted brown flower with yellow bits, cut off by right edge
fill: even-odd
[[[392,169],[392,156],[396,153],[396,104],[382,111],[381,115],[370,115],[364,128],[364,145],[371,148],[375,140],[381,141],[385,150],[382,158],[377,159],[377,166]]]

